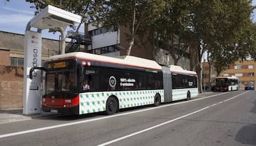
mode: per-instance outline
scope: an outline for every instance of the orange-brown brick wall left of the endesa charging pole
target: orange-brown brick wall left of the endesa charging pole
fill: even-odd
[[[0,110],[23,108],[23,67],[0,65]]]

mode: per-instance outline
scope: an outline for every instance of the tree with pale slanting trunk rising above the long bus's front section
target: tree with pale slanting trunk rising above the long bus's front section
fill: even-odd
[[[150,25],[156,22],[156,18],[161,15],[164,4],[163,0],[105,1],[99,7],[94,24],[102,28],[114,26],[115,30],[119,26],[129,28],[129,34],[127,34],[129,46],[126,48],[126,55],[129,55],[134,45],[135,35],[143,36],[146,33],[141,30],[148,30]]]

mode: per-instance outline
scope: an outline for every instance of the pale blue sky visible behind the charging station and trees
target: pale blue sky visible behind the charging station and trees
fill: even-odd
[[[256,5],[256,0],[253,0],[252,4]],[[34,17],[35,9],[30,6],[32,4],[25,0],[10,0],[10,2],[0,0],[0,31],[24,34],[27,23]],[[256,22],[256,10],[252,18]],[[67,30],[71,30],[71,28],[67,27],[66,32]],[[83,25],[79,31],[83,33]],[[48,30],[43,30],[41,33],[43,38],[59,40],[59,32],[53,34]]]

